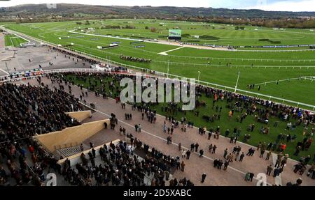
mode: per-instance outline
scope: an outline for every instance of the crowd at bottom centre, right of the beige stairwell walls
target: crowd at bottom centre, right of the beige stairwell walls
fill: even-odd
[[[118,144],[111,142],[108,146],[104,144],[99,148],[102,160],[99,164],[95,163],[95,150],[92,146],[87,153],[88,157],[82,153],[80,162],[75,167],[71,167],[69,160],[65,160],[62,175],[71,185],[80,186],[165,186],[167,181],[170,186],[193,186],[186,178],[170,178],[171,171],[178,169],[179,158],[174,159],[155,148],[149,152],[149,146],[137,138],[132,145],[123,141]],[[133,148],[144,151],[146,157],[134,154]]]

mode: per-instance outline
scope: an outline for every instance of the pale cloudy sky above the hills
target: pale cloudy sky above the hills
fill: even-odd
[[[315,11],[315,0],[0,0],[0,7],[25,3],[80,3],[104,6],[183,6],[257,8],[277,11]]]

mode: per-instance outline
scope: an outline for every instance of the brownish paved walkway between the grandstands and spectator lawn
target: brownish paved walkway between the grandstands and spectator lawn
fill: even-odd
[[[38,85],[36,79],[31,79],[24,81],[24,83],[29,82],[30,84]],[[43,78],[44,84],[48,84],[50,88],[53,86],[57,87],[57,84],[51,84],[50,80],[46,77]],[[68,87],[65,87],[66,91]],[[72,86],[72,93],[76,96],[80,95],[81,91],[77,86]],[[104,118],[109,118],[111,113],[116,114],[116,117],[119,120],[117,129],[121,125],[126,128],[128,133],[132,133],[134,137],[139,138],[145,144],[149,146],[154,146],[158,150],[162,151],[165,154],[172,156],[181,156],[181,153],[178,151],[178,144],[181,143],[183,148],[190,148],[190,144],[198,142],[200,148],[204,149],[204,157],[200,158],[197,153],[190,155],[190,160],[185,160],[186,167],[185,171],[176,171],[174,176],[176,178],[186,177],[195,183],[195,185],[255,185],[257,180],[254,179],[253,182],[244,181],[244,174],[246,172],[253,172],[255,176],[259,173],[265,173],[267,165],[273,164],[272,159],[266,161],[265,159],[259,158],[258,151],[255,152],[253,157],[244,157],[243,162],[232,162],[227,171],[215,169],[213,167],[213,160],[222,159],[223,160],[223,151],[225,148],[228,148],[229,153],[232,152],[232,148],[236,145],[241,146],[241,151],[247,153],[248,146],[247,144],[242,144],[237,142],[237,144],[230,144],[230,139],[225,137],[220,137],[220,139],[207,140],[207,136],[201,136],[198,134],[197,128],[188,128],[188,131],[183,133],[180,129],[175,129],[174,134],[172,135],[173,144],[167,145],[167,134],[162,132],[162,124],[165,120],[164,116],[158,116],[156,123],[149,123],[148,121],[141,120],[141,112],[132,111],[130,105],[126,105],[126,109],[122,110],[120,103],[116,104],[116,101],[113,99],[104,100],[102,97],[95,97],[94,93],[89,93],[88,97],[85,97],[87,104],[91,102],[96,105],[97,113],[92,117],[93,120],[100,120]],[[132,113],[132,120],[125,121],[125,112]],[[134,125],[136,123],[141,124],[141,133],[134,131]],[[169,123],[167,122],[167,125]],[[110,135],[110,134],[109,134]],[[95,145],[104,144],[109,139],[109,135],[106,132],[99,132],[90,138]],[[111,138],[118,139],[120,136],[117,134],[117,137],[111,134]],[[87,142],[87,141],[86,141]],[[216,154],[211,154],[208,152],[209,144],[216,144],[218,148],[216,149]],[[199,148],[199,149],[200,149]],[[295,180],[300,176],[293,173],[293,166],[296,164],[294,160],[289,160],[288,164],[284,168],[283,173],[281,174],[282,184],[285,185],[288,181],[295,183]],[[201,175],[203,173],[207,174],[206,181],[200,183]],[[303,174],[302,185],[315,185],[315,180],[306,176],[306,172]],[[274,184],[275,180],[272,176],[267,177],[267,183]]]

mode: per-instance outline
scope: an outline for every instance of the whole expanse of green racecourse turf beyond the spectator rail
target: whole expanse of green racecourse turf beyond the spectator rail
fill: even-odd
[[[225,86],[234,88],[237,73],[241,72],[238,89],[315,105],[315,93],[312,92],[315,91],[315,82],[309,79],[280,82],[279,85],[262,85],[260,91],[257,90],[257,87],[254,90],[247,88],[248,84],[259,84],[278,79],[293,79],[304,76],[314,77],[315,54],[314,51],[309,51],[309,49],[303,49],[302,47],[290,48],[290,50],[294,51],[279,51],[279,49],[282,50],[283,48],[267,49],[269,51],[265,51],[265,49],[255,49],[255,51],[220,51],[191,47],[176,49],[179,46],[168,45],[166,42],[163,44],[148,42],[130,44],[132,40],[122,39],[167,40],[167,29],[178,28],[182,29],[183,36],[185,36],[183,37],[183,41],[200,40],[193,38],[195,35],[217,38],[216,40],[207,41],[202,39],[198,42],[200,44],[272,45],[268,41],[259,41],[260,39],[281,41],[281,45],[315,44],[315,33],[309,30],[274,30],[253,26],[245,26],[244,30],[235,30],[234,26],[225,24],[159,20],[94,20],[90,21],[90,24],[85,24],[85,21],[81,23],[9,24],[6,25],[6,28],[56,45],[60,44],[64,46],[74,43],[73,46],[68,48],[130,66],[167,72],[167,65],[169,63],[170,74],[196,79],[198,71],[200,71],[200,81],[209,82],[209,86],[219,84],[221,86],[218,87],[222,89],[225,89]],[[106,29],[106,26],[132,26],[135,29]],[[155,27],[155,32],[151,31],[151,27]],[[87,28],[94,29],[89,30]],[[69,31],[75,31],[76,33],[70,33]],[[94,34],[94,36],[87,34]],[[111,38],[104,36],[111,36]],[[120,42],[119,47],[97,49],[97,46],[106,46],[113,42]],[[145,47],[135,48],[137,45],[145,45]],[[160,52],[172,49],[176,50],[167,52],[168,55],[159,54]],[[125,61],[120,59],[121,54],[151,59],[152,61],[151,63]],[[204,84],[207,85],[207,83]],[[255,94],[251,95],[256,96]],[[269,97],[261,98],[274,100],[274,98]],[[279,100],[276,101],[279,102]],[[297,104],[292,102],[284,101],[284,103],[297,106]],[[314,107],[301,107],[314,109]]]

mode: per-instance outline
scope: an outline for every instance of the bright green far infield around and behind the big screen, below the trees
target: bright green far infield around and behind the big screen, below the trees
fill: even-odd
[[[269,39],[281,42],[281,45],[315,44],[315,34],[310,30],[268,29],[256,26],[244,26],[244,30],[235,30],[230,24],[213,24],[200,22],[175,22],[160,20],[106,20],[96,22],[94,27],[106,25],[134,26],[136,29],[97,29],[94,33],[102,35],[128,36],[130,38],[166,38],[168,29],[182,29],[183,41],[214,44],[214,45],[271,45],[271,42],[261,42],[259,39]],[[146,29],[146,27],[148,29]],[[152,32],[151,27],[156,31]],[[211,36],[195,38],[195,36]]]

